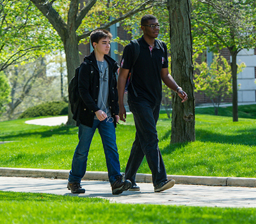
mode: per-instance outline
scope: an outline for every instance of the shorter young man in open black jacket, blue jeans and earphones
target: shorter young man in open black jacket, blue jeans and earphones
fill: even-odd
[[[99,129],[102,139],[113,195],[118,195],[131,187],[131,181],[123,180],[120,174],[116,147],[115,127],[119,120],[116,90],[118,65],[107,55],[111,37],[109,31],[93,31],[90,40],[94,51],[84,58],[79,69],[78,88],[81,103],[73,117],[79,126],[79,143],[68,177],[68,189],[72,193],[85,192],[80,183],[86,172],[88,152],[96,129]]]

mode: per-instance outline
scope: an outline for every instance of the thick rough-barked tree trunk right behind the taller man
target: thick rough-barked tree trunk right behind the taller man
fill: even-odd
[[[195,141],[195,97],[193,83],[191,1],[168,0],[172,76],[188,94],[181,102],[175,93],[172,101],[171,143]]]

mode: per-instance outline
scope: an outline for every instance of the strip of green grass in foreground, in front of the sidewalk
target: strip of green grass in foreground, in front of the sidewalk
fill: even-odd
[[[0,191],[0,223],[255,223],[256,209],[111,204],[99,198]]]

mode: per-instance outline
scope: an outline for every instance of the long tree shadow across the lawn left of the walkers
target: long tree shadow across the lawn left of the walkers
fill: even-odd
[[[49,138],[52,135],[69,135],[69,134],[77,134],[78,128],[75,126],[66,126],[66,125],[60,125],[60,126],[54,126],[54,127],[47,127],[47,130],[45,131],[26,131],[26,132],[18,132],[17,134],[6,134],[2,135],[0,137],[0,140],[3,141],[8,138],[8,140],[16,140],[18,138],[26,138],[29,136],[40,136],[40,138]]]

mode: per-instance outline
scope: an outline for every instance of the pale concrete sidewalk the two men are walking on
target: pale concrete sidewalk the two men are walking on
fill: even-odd
[[[141,191],[124,191],[112,195],[109,182],[82,180],[84,194],[72,194],[67,180],[31,177],[0,177],[0,191],[52,193],[81,197],[106,198],[124,204],[190,205],[207,207],[256,207],[255,188],[217,187],[175,184],[173,188],[154,193],[151,183],[138,184]]]

